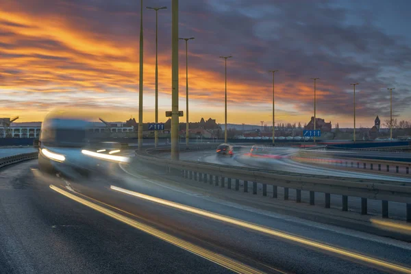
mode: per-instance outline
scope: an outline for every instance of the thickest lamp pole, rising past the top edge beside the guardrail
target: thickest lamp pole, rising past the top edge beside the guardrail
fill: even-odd
[[[178,0],[171,2],[171,160],[179,160]]]

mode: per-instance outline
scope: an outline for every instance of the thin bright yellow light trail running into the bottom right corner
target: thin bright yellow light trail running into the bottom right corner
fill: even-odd
[[[110,186],[110,188],[112,190],[116,190],[118,192],[123,192],[125,194],[132,195],[134,197],[138,197],[138,198],[141,198],[141,199],[145,199],[147,201],[153,201],[154,203],[160,203],[164,206],[170,206],[172,208],[177,208],[179,210],[184,210],[186,212],[198,214],[198,215],[201,215],[201,216],[206,216],[210,219],[223,221],[225,223],[231,223],[233,225],[238,225],[240,227],[245,227],[245,228],[248,228],[248,229],[253,229],[255,231],[262,232],[264,234],[269,234],[271,236],[284,238],[284,239],[290,240],[292,242],[298,242],[300,244],[307,245],[309,247],[314,247],[316,249],[321,249],[323,251],[329,251],[330,253],[335,253],[335,254],[338,254],[338,255],[341,255],[341,256],[352,258],[352,259],[358,260],[360,262],[366,262],[366,263],[373,264],[373,265],[376,265],[376,266],[381,266],[381,267],[384,267],[386,269],[390,269],[390,271],[397,271],[397,272],[401,272],[401,273],[411,274],[411,269],[409,269],[405,266],[401,266],[401,265],[398,265],[398,264],[393,264],[393,263],[390,263],[390,262],[385,262],[383,260],[379,260],[379,259],[376,259],[376,258],[371,258],[369,256],[362,255],[360,253],[347,251],[345,249],[341,249],[341,248],[338,248],[338,247],[333,247],[331,245],[325,245],[321,242],[315,242],[314,240],[308,240],[306,238],[292,236],[290,234],[286,234],[284,232],[279,232],[279,231],[276,231],[274,229],[269,229],[267,227],[262,227],[260,225],[255,225],[253,223],[247,223],[245,221],[240,221],[238,219],[234,219],[234,218],[230,218],[230,217],[223,216],[223,215],[220,215],[220,214],[208,212],[206,210],[199,210],[198,208],[192,208],[190,206],[184,206],[181,203],[175,203],[173,201],[167,201],[167,200],[164,200],[164,199],[152,197],[152,196],[145,195],[145,194],[135,192],[135,191],[132,191],[132,190],[126,190],[124,188],[119,188],[117,186]]]

